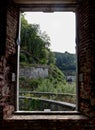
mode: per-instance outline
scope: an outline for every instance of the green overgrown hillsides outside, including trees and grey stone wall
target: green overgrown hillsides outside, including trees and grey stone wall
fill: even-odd
[[[19,94],[26,98],[20,100],[20,110],[39,111],[39,98],[75,103],[75,98],[62,96],[64,93],[76,92],[75,82],[67,82],[66,77],[75,73],[75,55],[68,52],[52,52],[50,45],[50,37],[40,30],[40,25],[29,24],[22,15]],[[28,105],[30,100],[27,97],[37,100],[35,102],[31,100]]]

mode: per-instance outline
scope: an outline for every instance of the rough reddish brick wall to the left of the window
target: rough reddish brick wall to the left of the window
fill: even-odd
[[[6,41],[2,41],[2,44],[5,44],[5,49],[3,55],[0,56],[0,106],[3,107],[5,118],[11,114],[15,105],[16,82],[12,82],[12,73],[16,74],[18,11],[16,7],[8,5],[3,10],[6,10],[5,31],[3,30],[6,32],[5,35],[3,33]]]

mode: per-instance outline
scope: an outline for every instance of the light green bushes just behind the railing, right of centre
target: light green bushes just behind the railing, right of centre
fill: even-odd
[[[57,80],[45,79],[36,88],[37,92],[55,92],[55,93],[76,93],[75,83],[68,84],[64,82],[58,82]]]

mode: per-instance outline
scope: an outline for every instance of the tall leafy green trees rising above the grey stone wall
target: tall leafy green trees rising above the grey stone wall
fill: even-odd
[[[46,32],[41,32],[38,24],[29,24],[22,14],[20,62],[29,64],[54,63],[55,59],[49,46],[50,37]]]

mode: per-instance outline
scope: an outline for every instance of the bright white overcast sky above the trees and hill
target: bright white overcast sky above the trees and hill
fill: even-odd
[[[28,23],[39,24],[40,30],[46,32],[51,51],[75,53],[75,13],[25,12],[25,19]]]

